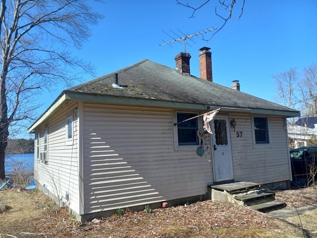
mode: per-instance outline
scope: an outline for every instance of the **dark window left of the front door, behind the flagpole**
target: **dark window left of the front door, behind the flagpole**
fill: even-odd
[[[197,113],[176,113],[178,146],[199,145]],[[189,120],[188,120],[189,119]],[[183,121],[183,122],[182,122]]]

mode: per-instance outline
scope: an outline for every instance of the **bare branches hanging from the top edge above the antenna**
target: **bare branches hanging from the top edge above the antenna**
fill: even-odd
[[[232,13],[233,13],[233,8],[236,5],[237,1],[241,2],[240,15],[238,17],[238,20],[239,20],[240,17],[242,16],[242,13],[243,13],[245,0],[218,0],[218,2],[212,1],[212,3],[214,3],[215,15],[217,17],[219,17],[223,22],[222,22],[222,25],[220,27],[217,27],[217,30],[211,35],[210,38],[204,39],[204,36],[203,36],[204,40],[206,40],[206,41],[211,40],[211,38],[225,26],[227,21],[231,19]],[[188,3],[183,3],[183,0],[176,0],[177,4],[180,4],[182,6],[185,6],[185,7],[192,9],[192,15],[190,16],[190,18],[195,17],[196,11],[201,9],[202,7],[206,7],[209,2],[211,2],[211,0],[205,0],[205,1],[203,1],[203,3],[200,3],[198,6],[193,6],[193,5],[190,5]],[[225,13],[219,13],[219,11],[217,10],[217,6],[220,6],[220,8],[225,11]]]

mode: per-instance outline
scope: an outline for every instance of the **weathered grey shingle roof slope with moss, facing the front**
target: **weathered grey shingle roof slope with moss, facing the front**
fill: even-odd
[[[118,84],[123,87],[122,89],[112,87],[113,73],[118,73]],[[214,82],[192,75],[185,76],[173,68],[151,60],[142,60],[113,73],[71,87],[65,92],[297,112]]]

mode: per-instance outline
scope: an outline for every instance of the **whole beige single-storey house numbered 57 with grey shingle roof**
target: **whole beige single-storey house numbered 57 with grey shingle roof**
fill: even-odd
[[[206,198],[225,181],[288,187],[286,118],[300,113],[212,82],[209,49],[201,78],[180,53],[176,70],[142,60],[63,91],[29,128],[37,187],[80,220]],[[218,108],[213,134],[197,133]]]

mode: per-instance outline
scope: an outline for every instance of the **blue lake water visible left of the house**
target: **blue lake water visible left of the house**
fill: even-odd
[[[33,172],[34,154],[11,154],[5,155],[5,174],[16,171]]]

